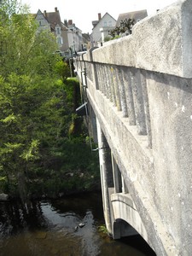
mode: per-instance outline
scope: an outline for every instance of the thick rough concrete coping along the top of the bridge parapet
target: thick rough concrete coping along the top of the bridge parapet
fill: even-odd
[[[192,78],[192,2],[178,1],[93,50],[93,60]],[[89,57],[85,57],[89,60]]]

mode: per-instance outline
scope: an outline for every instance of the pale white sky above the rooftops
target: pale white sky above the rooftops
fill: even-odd
[[[156,9],[162,9],[176,0],[21,0],[27,3],[31,13],[35,14],[40,9],[42,12],[54,12],[55,7],[60,11],[61,21],[73,20],[75,26],[82,32],[92,32],[92,20],[98,20],[98,13],[102,16],[108,13],[115,20],[119,14],[134,10],[147,9],[148,15],[154,15]]]

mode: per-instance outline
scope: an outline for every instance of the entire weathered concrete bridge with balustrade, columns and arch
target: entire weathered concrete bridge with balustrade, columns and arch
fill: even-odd
[[[75,61],[98,143],[108,233],[192,255],[192,1]]]

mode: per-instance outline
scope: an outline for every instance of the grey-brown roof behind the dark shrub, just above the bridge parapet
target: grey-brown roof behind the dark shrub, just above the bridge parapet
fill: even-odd
[[[125,14],[120,14],[118,17],[116,26],[120,26],[121,20],[125,20],[125,19],[133,20],[134,19],[137,22],[138,20],[143,20],[147,16],[148,16],[148,12],[146,9],[137,10],[137,11],[133,11],[133,12],[125,13]]]

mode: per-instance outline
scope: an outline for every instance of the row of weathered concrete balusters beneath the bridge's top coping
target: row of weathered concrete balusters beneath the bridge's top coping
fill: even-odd
[[[84,61],[87,78],[101,90],[139,135],[148,136],[152,146],[148,92],[144,70],[135,67]]]

